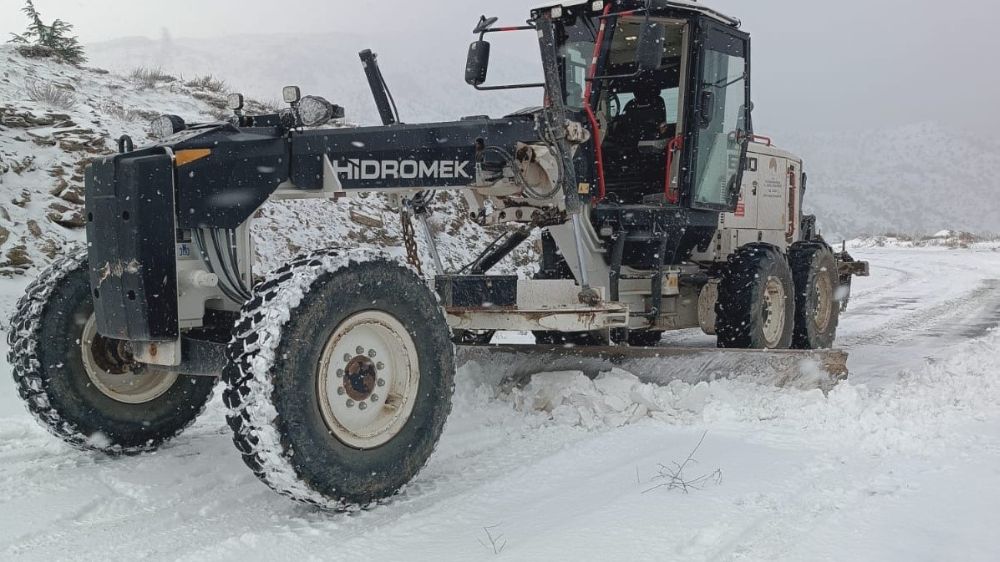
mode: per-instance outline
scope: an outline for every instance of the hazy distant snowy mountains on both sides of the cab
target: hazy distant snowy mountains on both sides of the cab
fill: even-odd
[[[347,107],[351,118],[375,123],[377,114],[357,52],[374,48],[404,120],[451,120],[462,115],[504,115],[538,105],[537,92],[480,93],[462,81],[462,35],[453,48],[413,44],[391,34],[243,35],[214,39],[121,39],[91,45],[92,60],[128,72],[144,66],[185,75],[212,73],[233,87],[268,99],[286,83],[326,95]],[[511,61],[491,69],[504,81],[537,76],[537,63],[517,70]],[[505,72],[507,75],[505,75]],[[757,100],[764,103],[765,100]],[[817,107],[816,111],[823,111]],[[919,117],[915,117],[915,120]],[[763,121],[778,146],[805,159],[807,207],[828,238],[905,232],[932,234],[943,228],[1000,232],[995,194],[1000,180],[1000,144],[935,123],[883,131],[863,123],[837,133],[779,133]]]

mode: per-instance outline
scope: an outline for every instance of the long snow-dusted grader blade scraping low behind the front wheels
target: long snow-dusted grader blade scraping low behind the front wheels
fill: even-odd
[[[591,378],[612,368],[647,383],[689,384],[719,379],[801,390],[830,391],[847,379],[847,352],[759,351],[658,347],[558,347],[536,345],[462,346],[458,364],[500,370],[504,385],[522,386],[540,373],[581,371]]]

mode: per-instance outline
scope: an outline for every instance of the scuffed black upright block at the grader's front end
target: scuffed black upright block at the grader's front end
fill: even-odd
[[[117,156],[87,169],[90,282],[100,334],[178,337],[173,162]]]

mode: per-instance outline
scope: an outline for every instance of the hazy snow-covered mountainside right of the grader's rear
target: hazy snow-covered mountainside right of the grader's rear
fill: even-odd
[[[1000,231],[995,141],[919,123],[849,134],[789,134],[780,144],[805,159],[807,206],[827,232]]]

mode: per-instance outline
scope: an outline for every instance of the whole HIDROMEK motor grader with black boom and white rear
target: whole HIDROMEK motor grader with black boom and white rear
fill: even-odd
[[[486,38],[509,32],[537,37],[538,83],[487,84]],[[290,87],[277,113],[246,115],[236,95],[229,121],[163,116],[156,144],[122,138],[93,161],[87,247],[42,273],[12,321],[32,414],[82,449],[151,451],[193,422],[221,376],[254,473],[344,510],[396,494],[431,456],[454,342],[459,355],[549,368],[641,359],[647,378],[669,365],[705,376],[691,359],[711,353],[724,358],[718,376],[784,362],[788,382],[810,359],[828,382],[844,374],[842,354],[808,350],[832,346],[851,275],[867,266],[802,215],[802,161],[755,135],[737,20],[693,2],[597,0],[538,8],[516,27],[484,17],[475,34],[467,82],[538,88],[542,107],[404,124],[365,51],[381,126],[325,127],[343,109]],[[460,193],[469,220],[506,228],[458,272],[430,229],[434,263],[419,261],[414,224],[426,226],[439,190]],[[362,192],[400,210],[408,260],[331,241],[255,275],[261,205]],[[534,278],[490,274],[537,232]],[[728,349],[650,347],[699,326]],[[481,347],[508,330],[538,346]]]

